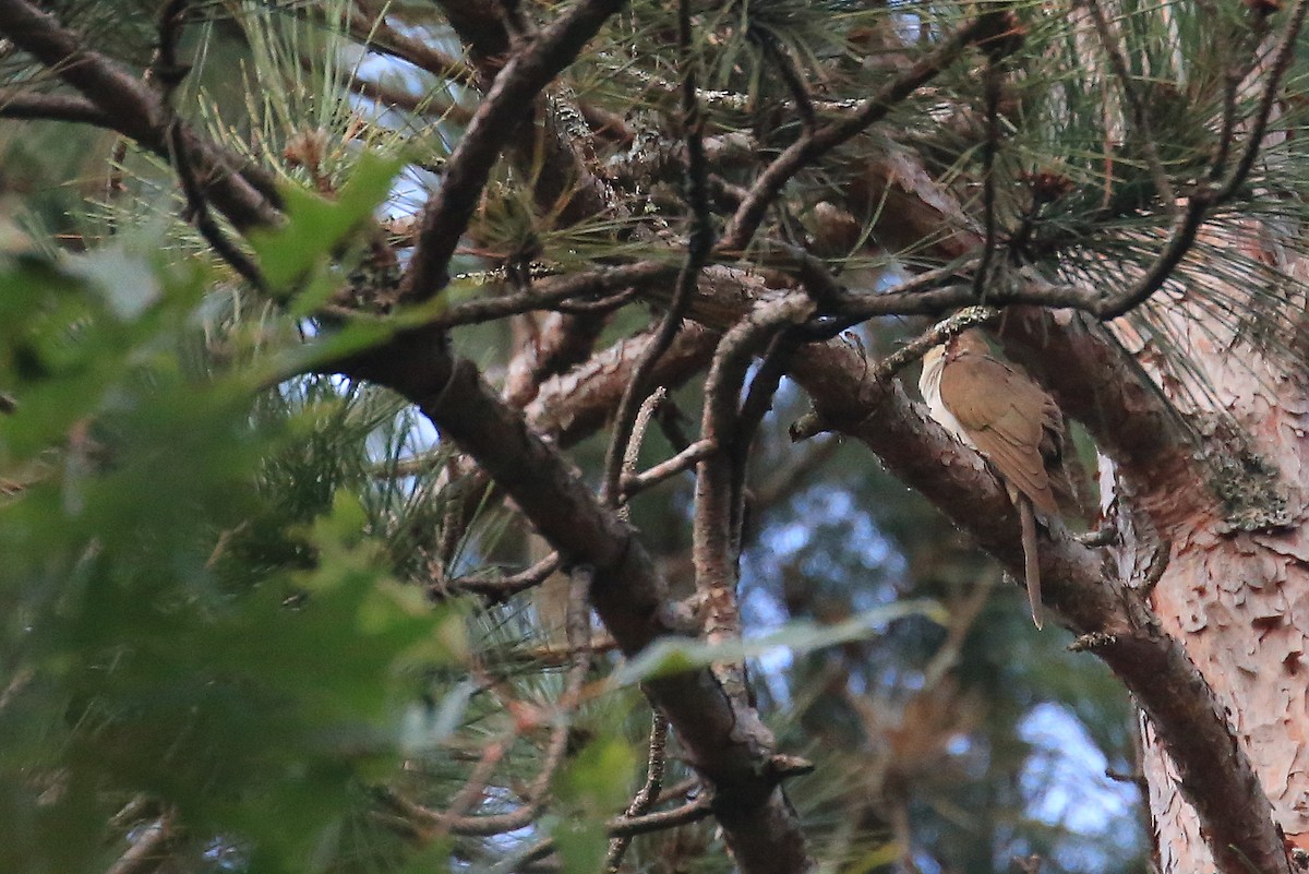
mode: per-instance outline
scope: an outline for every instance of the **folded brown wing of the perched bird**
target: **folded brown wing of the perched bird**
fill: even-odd
[[[991,356],[966,353],[941,374],[941,396],[1005,481],[1042,512],[1059,516],[1039,449],[1049,403],[1045,391]]]

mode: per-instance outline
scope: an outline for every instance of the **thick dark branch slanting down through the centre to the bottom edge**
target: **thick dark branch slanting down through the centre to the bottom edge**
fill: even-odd
[[[668,589],[634,531],[602,508],[575,470],[456,360],[439,335],[410,332],[344,366],[399,391],[467,451],[564,556],[594,568],[592,601],[627,654],[679,633]],[[708,670],[647,683],[694,767],[713,786],[715,813],[747,874],[806,871],[798,820],[770,767],[768,733]]]

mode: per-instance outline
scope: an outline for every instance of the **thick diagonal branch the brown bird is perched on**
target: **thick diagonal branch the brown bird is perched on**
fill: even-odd
[[[839,343],[810,347],[792,370],[830,424],[868,445],[1021,577],[1018,521],[1004,487],[898,385],[860,376],[868,373],[863,357]],[[1272,807],[1224,705],[1185,648],[1158,628],[1138,593],[1107,576],[1100,557],[1066,534],[1042,539],[1041,580],[1047,603],[1155,722],[1224,874],[1287,874]]]

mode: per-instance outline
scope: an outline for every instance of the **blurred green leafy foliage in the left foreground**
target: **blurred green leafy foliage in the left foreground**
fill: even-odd
[[[461,611],[393,578],[359,497],[268,489],[346,400],[259,415],[257,356],[206,353],[208,281],[122,247],[0,262],[5,871],[106,866],[140,794],[306,870],[398,763],[420,671],[462,658]]]

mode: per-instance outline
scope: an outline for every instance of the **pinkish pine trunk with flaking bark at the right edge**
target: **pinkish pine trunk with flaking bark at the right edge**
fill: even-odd
[[[1227,704],[1288,848],[1309,848],[1309,378],[1302,368],[1287,372],[1261,357],[1212,319],[1187,313],[1183,322],[1179,309],[1172,327],[1187,338],[1211,395],[1161,382],[1195,421],[1212,423],[1202,427],[1202,451],[1213,462],[1221,501],[1169,517],[1168,496],[1136,496],[1138,505],[1153,508],[1170,543],[1152,603]],[[1258,310],[1251,306],[1250,314]],[[1152,364],[1148,349],[1139,358]],[[1219,411],[1236,430],[1217,424]],[[1233,434],[1244,437],[1246,454]],[[1119,559],[1139,556],[1143,540],[1126,538]],[[1213,870],[1166,751],[1148,720],[1141,730],[1160,870]]]

